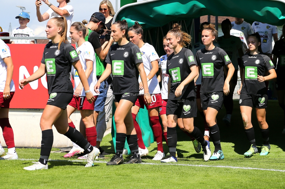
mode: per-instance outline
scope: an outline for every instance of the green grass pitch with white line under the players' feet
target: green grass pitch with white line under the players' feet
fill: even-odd
[[[86,161],[63,158],[64,153],[51,153],[48,170],[26,171],[23,167],[38,161],[40,149],[18,148],[19,160],[0,161],[2,183],[0,188],[284,188],[285,186],[285,135],[283,111],[277,101],[269,101],[267,123],[270,127],[270,153],[255,154],[244,158],[250,145],[243,129],[238,101],[234,101],[232,124],[226,127],[220,110],[217,120],[225,159],[203,160],[197,154],[190,138],[177,129],[178,162],[162,164],[153,161],[157,145],[152,143],[149,154],[142,157],[142,164],[107,166],[114,154],[111,134],[104,137],[101,147],[111,155],[94,162],[93,167],[84,167]],[[258,151],[263,144],[255,110],[252,113]],[[194,122],[203,130],[203,121],[198,115]],[[210,138],[211,140],[211,138]],[[212,153],[214,150],[211,142]],[[57,150],[57,149],[52,149]],[[7,149],[5,149],[7,151]],[[164,142],[165,154],[168,147]],[[128,160],[130,156],[124,156]]]

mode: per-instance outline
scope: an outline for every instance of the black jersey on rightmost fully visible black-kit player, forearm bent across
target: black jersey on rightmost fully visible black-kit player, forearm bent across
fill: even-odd
[[[270,58],[265,54],[245,54],[241,58],[241,67],[244,68],[244,82],[241,93],[248,95],[263,95],[266,93],[265,82],[259,82],[257,75],[265,76],[265,72],[274,69]]]

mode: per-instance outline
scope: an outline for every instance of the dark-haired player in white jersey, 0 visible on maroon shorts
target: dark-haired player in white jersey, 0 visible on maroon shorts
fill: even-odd
[[[155,51],[152,45],[143,42],[143,30],[138,22],[135,22],[135,25],[129,28],[128,36],[130,37],[130,41],[133,44],[138,45],[138,47],[140,48],[145,74],[147,75],[147,85],[152,99],[151,104],[148,106],[143,98],[144,90],[141,78],[139,77],[138,82],[140,83],[140,95],[138,96],[138,99],[135,102],[135,106],[132,107],[132,116],[134,126],[138,135],[140,156],[147,155],[148,150],[143,143],[140,126],[138,125],[138,122],[135,120],[135,118],[140,108],[144,108],[145,105],[148,110],[148,114],[150,115],[152,130],[154,133],[155,140],[157,142],[157,153],[155,154],[153,160],[161,160],[162,158],[164,158],[165,154],[163,152],[162,147],[162,129],[158,117],[159,107],[162,106],[161,91],[156,76],[156,73],[158,71],[159,56],[157,55],[157,52]]]

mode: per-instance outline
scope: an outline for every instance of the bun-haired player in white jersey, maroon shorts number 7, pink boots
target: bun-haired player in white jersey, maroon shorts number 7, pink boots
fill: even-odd
[[[85,41],[85,37],[88,35],[88,28],[81,22],[74,22],[70,27],[70,35],[72,42],[76,42],[78,47],[76,48],[77,54],[79,56],[80,63],[85,72],[86,78],[92,94],[94,95],[95,101],[98,97],[98,93],[94,91],[94,86],[97,83],[96,78],[96,66],[95,61],[95,52],[90,42]],[[93,120],[93,110],[94,103],[91,104],[87,101],[83,85],[79,79],[77,70],[72,67],[71,72],[74,75],[74,95],[71,102],[67,105],[67,116],[69,126],[74,127],[72,120],[69,118],[70,115],[75,110],[80,110],[82,121],[86,128],[86,138],[87,141],[92,145],[96,146],[96,127]],[[75,156],[79,153],[82,153],[84,149],[80,148],[73,142],[73,148],[68,154],[65,154],[63,157]]]

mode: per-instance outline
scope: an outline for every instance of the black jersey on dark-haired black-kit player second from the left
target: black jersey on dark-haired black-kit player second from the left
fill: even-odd
[[[114,44],[110,47],[105,61],[112,67],[114,95],[139,92],[136,64],[142,63],[142,55],[137,45],[131,42],[121,46]]]

